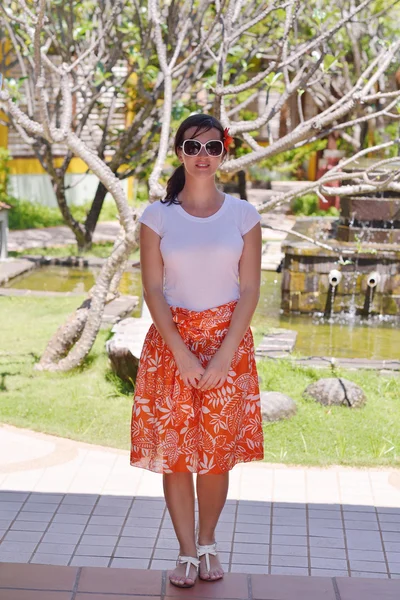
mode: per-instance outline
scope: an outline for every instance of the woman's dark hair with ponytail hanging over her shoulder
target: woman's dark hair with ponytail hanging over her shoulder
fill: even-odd
[[[196,127],[196,131],[194,132],[193,136],[197,135],[200,131],[218,129],[218,131],[221,133],[221,140],[224,139],[224,128],[218,119],[212,117],[211,115],[204,115],[202,113],[190,115],[190,117],[182,121],[182,123],[179,125],[178,131],[175,134],[174,149],[177,156],[178,148],[183,144],[184,133],[187,129],[190,129],[190,127]],[[168,179],[167,195],[165,196],[164,200],[161,200],[160,202],[163,204],[168,203],[168,206],[170,204],[182,204],[182,202],[180,202],[176,196],[180,191],[183,190],[184,186],[185,167],[180,165],[177,169],[175,169],[171,177]]]

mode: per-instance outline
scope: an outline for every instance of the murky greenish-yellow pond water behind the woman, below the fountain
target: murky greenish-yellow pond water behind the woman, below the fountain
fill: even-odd
[[[95,268],[41,267],[9,281],[5,287],[84,294],[94,285],[99,271]],[[280,288],[280,274],[262,271],[261,296],[252,324],[265,333],[276,327],[297,331],[296,353],[338,358],[398,357],[399,319],[376,317],[350,320],[346,315],[337,315],[327,321],[322,316],[285,316],[280,310]],[[141,298],[141,275],[138,269],[123,274],[120,291]],[[141,304],[132,316],[139,317],[140,313]]]

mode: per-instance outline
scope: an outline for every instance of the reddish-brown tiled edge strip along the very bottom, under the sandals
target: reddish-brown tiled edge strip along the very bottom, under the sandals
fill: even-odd
[[[165,571],[1,565],[0,600],[398,600],[400,581],[229,573],[180,590]]]

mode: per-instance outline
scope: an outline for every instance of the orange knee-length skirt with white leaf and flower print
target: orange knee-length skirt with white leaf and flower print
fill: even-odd
[[[186,346],[203,368],[220,347],[237,304],[194,311],[170,306]],[[260,389],[250,327],[225,383],[186,386],[154,323],[140,356],[131,424],[130,463],[157,473],[229,471],[264,457]]]

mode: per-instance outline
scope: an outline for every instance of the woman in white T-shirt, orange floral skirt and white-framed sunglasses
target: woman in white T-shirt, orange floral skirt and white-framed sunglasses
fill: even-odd
[[[199,568],[206,581],[223,577],[214,532],[229,470],[264,456],[250,329],[260,293],[261,217],[215,185],[231,140],[211,116],[183,121],[175,136],[181,166],[165,200],[139,219],[153,324],[136,379],[131,465],[163,474],[180,545],[170,581],[180,587],[192,587]]]

